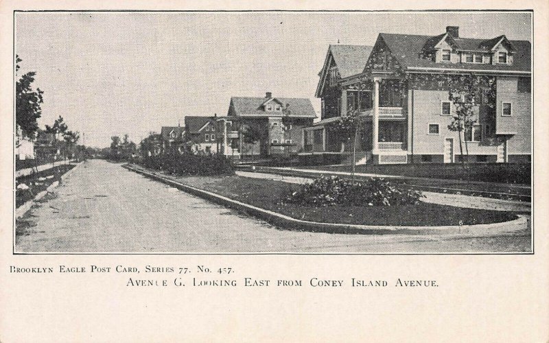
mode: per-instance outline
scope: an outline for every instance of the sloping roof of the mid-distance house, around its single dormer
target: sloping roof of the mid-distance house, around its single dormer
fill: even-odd
[[[263,110],[262,104],[266,102],[266,97],[231,97],[229,115],[246,117],[277,117],[276,112],[267,112]],[[289,117],[316,118],[311,100],[299,97],[274,97],[279,101],[283,108],[279,116],[288,115]],[[232,108],[232,112],[231,111]],[[185,117],[187,119],[187,117]]]

